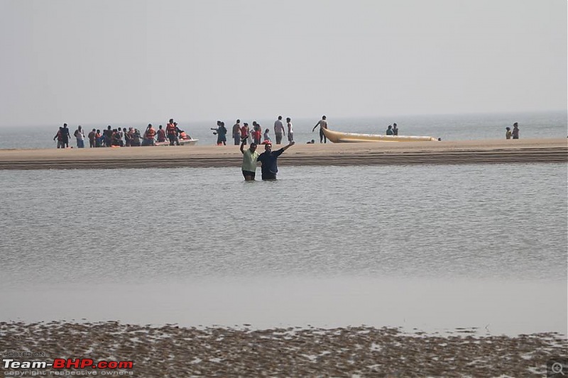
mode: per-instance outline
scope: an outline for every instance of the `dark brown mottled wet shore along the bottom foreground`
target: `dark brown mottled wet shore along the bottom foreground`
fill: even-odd
[[[122,370],[133,377],[544,377],[547,361],[568,352],[566,337],[557,333],[511,338],[464,328],[442,336],[365,326],[248,326],[0,323],[0,352],[49,355],[13,357],[20,361],[133,361],[133,369]],[[0,366],[0,372],[8,371]],[[50,375],[53,369],[40,371]]]

